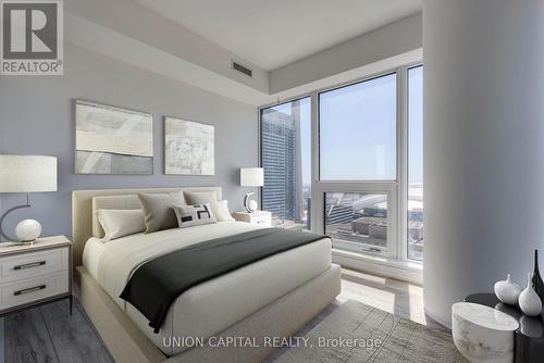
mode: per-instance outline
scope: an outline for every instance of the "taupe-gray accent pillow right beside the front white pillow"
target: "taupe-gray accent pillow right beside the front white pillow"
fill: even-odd
[[[146,234],[177,227],[177,218],[172,208],[176,200],[166,193],[138,192],[139,202],[144,210]]]

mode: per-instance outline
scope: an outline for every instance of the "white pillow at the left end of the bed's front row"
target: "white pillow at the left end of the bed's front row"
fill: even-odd
[[[146,230],[141,210],[98,210],[97,217],[106,233],[102,242]]]

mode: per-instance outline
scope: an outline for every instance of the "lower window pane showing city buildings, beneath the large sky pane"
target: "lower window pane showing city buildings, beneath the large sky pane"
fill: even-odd
[[[325,192],[324,199],[325,234],[336,248],[380,252],[387,247],[387,195]]]

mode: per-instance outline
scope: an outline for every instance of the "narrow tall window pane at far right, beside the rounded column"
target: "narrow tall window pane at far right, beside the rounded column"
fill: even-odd
[[[408,259],[423,260],[423,66],[408,70]]]

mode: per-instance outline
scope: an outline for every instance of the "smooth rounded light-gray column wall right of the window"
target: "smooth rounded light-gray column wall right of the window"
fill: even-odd
[[[447,325],[544,248],[544,2],[425,0],[423,62],[423,292]]]

